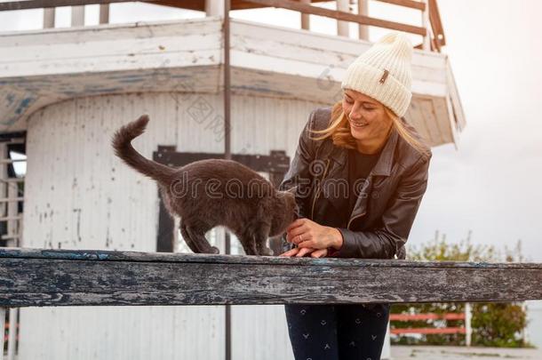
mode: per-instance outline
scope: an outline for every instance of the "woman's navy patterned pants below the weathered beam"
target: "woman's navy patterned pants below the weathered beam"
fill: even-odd
[[[388,304],[286,304],[296,360],[379,360]]]

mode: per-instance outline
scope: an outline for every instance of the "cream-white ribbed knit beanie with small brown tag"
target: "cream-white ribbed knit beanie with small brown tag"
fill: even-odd
[[[362,92],[403,116],[412,97],[411,59],[409,38],[390,32],[350,64],[341,88]]]

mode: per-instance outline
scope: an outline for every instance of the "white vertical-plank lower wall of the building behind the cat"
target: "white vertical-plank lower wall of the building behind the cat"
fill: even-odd
[[[209,116],[190,116],[195,103],[206,103]],[[233,96],[232,152],[293,156],[317,106]],[[219,94],[96,96],[43,108],[28,120],[23,246],[155,251],[155,183],[109,145],[120,125],[143,113],[151,122],[133,144],[144,156],[158,145],[223,150]],[[232,314],[233,358],[292,358],[283,306],[234,306]],[[21,308],[20,316],[20,360],[224,358],[221,306]]]

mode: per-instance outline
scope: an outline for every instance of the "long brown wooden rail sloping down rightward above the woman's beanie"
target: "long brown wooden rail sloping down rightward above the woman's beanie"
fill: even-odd
[[[401,24],[399,22],[380,20],[371,18],[369,16],[357,15],[350,12],[339,12],[336,10],[324,9],[317,6],[308,4],[301,4],[291,0],[246,0],[255,4],[262,4],[266,6],[273,6],[277,8],[283,8],[293,10],[296,12],[303,12],[312,15],[324,16],[335,20],[352,21],[362,25],[369,25],[379,28],[390,28],[393,30],[405,31],[411,34],[417,34],[426,36],[426,28],[415,27],[411,25]]]

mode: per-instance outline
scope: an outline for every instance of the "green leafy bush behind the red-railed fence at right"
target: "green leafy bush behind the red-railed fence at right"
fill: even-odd
[[[522,261],[521,241],[513,250],[505,248],[504,255],[499,254],[492,245],[471,244],[469,232],[466,240],[458,244],[448,244],[446,236],[436,233],[434,240],[419,247],[410,247],[408,260],[431,261],[485,261],[496,262],[506,260]],[[394,304],[392,314],[426,314],[426,313],[463,313],[464,303],[428,303],[428,304]],[[526,312],[522,303],[473,303],[473,329],[471,344],[484,347],[522,348],[530,345],[523,339],[523,330],[527,326]],[[392,321],[392,328],[423,327],[459,327],[462,320],[426,320],[415,322]],[[464,334],[421,334],[398,335],[392,337],[393,344],[401,345],[465,345]]]

